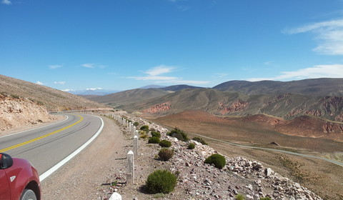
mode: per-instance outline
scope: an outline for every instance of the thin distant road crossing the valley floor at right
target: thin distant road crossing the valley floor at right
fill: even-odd
[[[284,154],[292,154],[292,155],[295,155],[295,156],[302,156],[302,157],[307,157],[307,158],[312,158],[312,159],[321,159],[321,160],[324,160],[324,161],[328,161],[328,162],[330,162],[332,164],[337,164],[339,166],[343,166],[343,163],[340,162],[340,161],[336,161],[336,160],[332,160],[332,159],[327,159],[327,158],[323,158],[323,157],[319,157],[319,156],[312,156],[312,155],[307,155],[307,154],[299,154],[299,153],[296,153],[296,152],[285,151],[285,150],[281,150],[281,149],[269,149],[269,148],[263,148],[263,147],[257,147],[257,146],[247,146],[247,145],[242,145],[242,144],[235,144],[235,143],[232,143],[232,142],[229,142],[229,141],[222,141],[222,140],[219,140],[219,139],[214,139],[212,137],[203,136],[203,135],[200,135],[200,134],[194,134],[194,135],[202,136],[203,138],[212,139],[212,140],[215,140],[215,141],[220,141],[220,142],[223,142],[223,143],[226,143],[226,144],[231,144],[231,145],[239,146],[239,147],[243,147],[243,148],[261,149],[261,150],[280,152],[280,153],[284,153]]]

